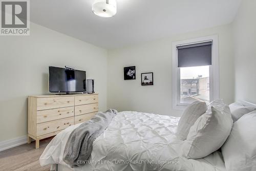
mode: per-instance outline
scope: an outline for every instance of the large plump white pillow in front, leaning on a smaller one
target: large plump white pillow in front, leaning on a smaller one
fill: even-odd
[[[182,145],[182,156],[199,159],[217,151],[229,136],[232,124],[228,105],[211,106],[211,111],[200,116],[191,126]]]

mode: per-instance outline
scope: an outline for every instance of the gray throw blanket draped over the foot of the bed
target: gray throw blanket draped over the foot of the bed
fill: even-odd
[[[99,112],[73,130],[65,146],[63,161],[71,167],[84,165],[92,153],[94,140],[109,126],[116,114],[117,111],[112,109]]]

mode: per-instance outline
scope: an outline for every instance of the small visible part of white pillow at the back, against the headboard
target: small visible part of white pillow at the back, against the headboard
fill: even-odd
[[[248,114],[248,113],[255,110],[255,108],[244,106],[241,103],[229,104],[229,108],[230,108],[232,119],[233,119],[234,122],[236,122],[243,115]]]

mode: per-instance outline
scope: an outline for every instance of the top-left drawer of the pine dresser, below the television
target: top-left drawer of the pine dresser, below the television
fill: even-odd
[[[74,96],[37,98],[37,111],[73,106],[74,101]]]

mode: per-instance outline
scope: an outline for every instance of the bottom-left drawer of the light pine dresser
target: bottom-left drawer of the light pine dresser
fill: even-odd
[[[36,136],[41,136],[56,131],[64,130],[74,124],[74,117],[58,119],[50,122],[38,123],[36,125]]]

